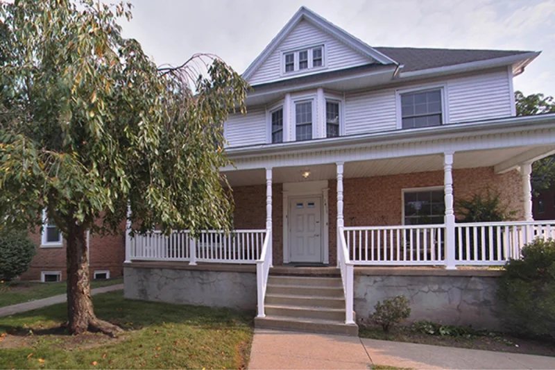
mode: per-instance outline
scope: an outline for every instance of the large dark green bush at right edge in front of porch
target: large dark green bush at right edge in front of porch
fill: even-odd
[[[536,239],[510,260],[497,290],[499,317],[511,333],[555,339],[555,241]]]

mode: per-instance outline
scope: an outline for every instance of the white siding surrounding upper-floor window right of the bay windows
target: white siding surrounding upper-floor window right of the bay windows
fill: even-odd
[[[411,84],[395,89],[345,94],[345,135],[395,130],[400,115],[396,90],[418,90],[442,85],[445,123],[510,117],[511,92],[505,71],[450,78],[430,84]],[[399,118],[400,122],[400,118]]]

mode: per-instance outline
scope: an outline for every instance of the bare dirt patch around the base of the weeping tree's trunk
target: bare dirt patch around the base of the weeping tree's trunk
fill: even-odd
[[[0,348],[33,347],[39,342],[49,342],[53,347],[67,351],[83,351],[105,344],[122,342],[128,337],[125,333],[112,338],[102,333],[86,333],[83,335],[67,334],[65,326],[55,326],[39,330],[17,330],[12,333],[0,335]]]

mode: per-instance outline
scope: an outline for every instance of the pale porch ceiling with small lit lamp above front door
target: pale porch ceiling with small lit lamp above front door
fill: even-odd
[[[493,167],[502,162],[522,155],[530,150],[530,146],[519,146],[507,149],[482,151],[464,151],[454,153],[453,168]],[[415,155],[402,158],[365,160],[345,162],[345,178],[370,176],[387,176],[410,174],[414,172],[443,171],[443,155]],[[309,171],[308,178],[302,173]],[[232,186],[262,185],[266,183],[264,169],[225,171]],[[336,178],[336,165],[307,165],[296,167],[276,167],[272,172],[273,183],[298,183],[302,181],[332,180]]]

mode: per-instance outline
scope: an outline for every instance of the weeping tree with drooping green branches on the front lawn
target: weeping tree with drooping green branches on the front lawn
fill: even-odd
[[[0,3],[0,217],[36,227],[46,209],[62,231],[76,334],[121,330],[94,314],[87,230],[230,229],[222,123],[248,84],[215,56],[158,68],[121,36],[130,8]]]

